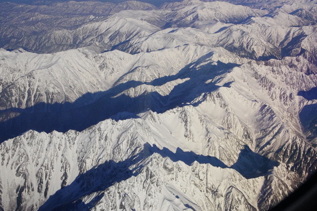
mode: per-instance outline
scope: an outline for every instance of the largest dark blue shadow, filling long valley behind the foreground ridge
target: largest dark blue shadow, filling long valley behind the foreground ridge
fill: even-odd
[[[9,108],[1,110],[0,143],[29,130],[45,131],[46,133],[54,130],[59,132],[82,131],[107,118],[115,120],[139,118],[136,114],[146,109],[162,113],[176,106],[182,107],[189,104],[197,106],[204,100],[206,93],[216,91],[220,87],[216,85],[220,79],[205,83],[207,80],[215,79],[217,76],[238,66],[237,64],[225,64],[220,61],[217,62],[217,65],[211,62],[201,65],[208,61],[212,55],[212,53],[209,53],[202,56],[181,69],[176,75],[164,76],[151,82],[132,80],[115,84],[105,92],[86,93],[74,103],[38,103],[25,109]],[[158,92],[144,92],[137,97],[129,97],[125,94],[117,96],[129,88],[142,84],[160,86],[176,79],[186,78],[189,78],[189,80],[175,86],[170,94],[166,96],[162,96]],[[230,83],[225,84],[225,86],[230,87]],[[193,102],[202,94],[203,99]],[[97,100],[86,105],[89,99],[95,98]]]

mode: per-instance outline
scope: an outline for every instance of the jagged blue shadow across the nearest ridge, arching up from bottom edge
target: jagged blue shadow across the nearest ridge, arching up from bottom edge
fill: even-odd
[[[169,157],[173,162],[182,161],[187,165],[197,161],[214,167],[235,169],[246,179],[269,175],[274,166],[279,165],[278,162],[253,152],[247,145],[239,153],[236,163],[228,167],[217,157],[197,155],[192,151],[187,152],[180,148],[177,148],[174,153],[165,147],[159,149],[156,145],[146,143],[143,145],[143,150],[137,153],[136,148],[124,161],[116,163],[110,160],[80,174],[74,182],[49,196],[39,211],[90,210],[102,199],[105,189],[111,187],[115,182],[119,183],[132,176],[138,176],[144,168],[141,163],[146,163],[145,159],[153,153]],[[94,194],[95,197],[85,204],[82,201],[83,198],[91,194]]]

